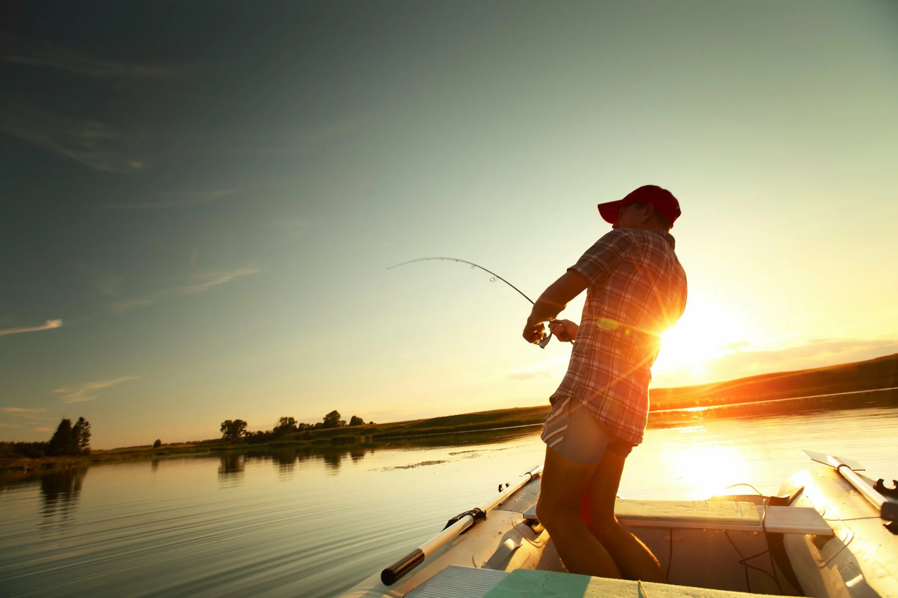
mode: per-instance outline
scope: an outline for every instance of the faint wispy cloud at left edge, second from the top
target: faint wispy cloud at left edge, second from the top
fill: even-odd
[[[97,120],[14,105],[0,108],[0,131],[94,170],[135,173],[149,166],[134,139]]]

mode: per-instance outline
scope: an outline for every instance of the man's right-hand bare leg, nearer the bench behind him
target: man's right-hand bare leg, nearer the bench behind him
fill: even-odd
[[[625,578],[666,584],[667,576],[652,551],[636,536],[623,529],[614,516],[614,500],[621,483],[625,460],[626,457],[622,455],[605,451],[602,461],[595,467],[587,490],[591,530],[612,555]]]

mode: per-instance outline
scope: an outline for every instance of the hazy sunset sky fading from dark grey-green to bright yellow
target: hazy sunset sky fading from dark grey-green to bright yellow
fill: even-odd
[[[387,267],[535,298],[646,184],[690,292],[653,386],[898,352],[894,2],[0,10],[0,439],[547,403],[514,290]]]

